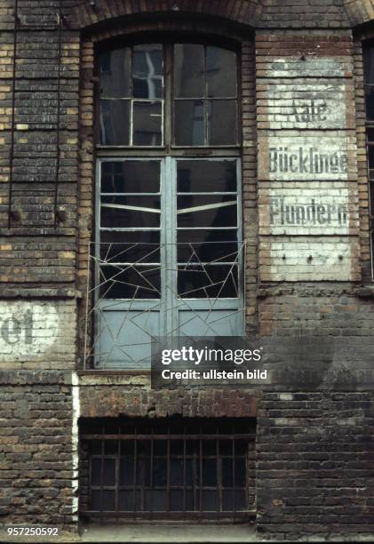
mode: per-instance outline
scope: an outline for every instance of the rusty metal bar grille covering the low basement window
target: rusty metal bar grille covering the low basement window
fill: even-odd
[[[87,516],[249,519],[253,420],[127,420],[85,425]]]

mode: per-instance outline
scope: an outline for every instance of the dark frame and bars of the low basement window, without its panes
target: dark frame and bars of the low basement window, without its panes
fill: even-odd
[[[124,422],[124,426],[123,426]],[[93,427],[92,427],[93,424]],[[226,428],[222,430],[221,425]],[[239,428],[237,428],[239,425]],[[245,426],[245,429],[244,429]],[[254,501],[250,500],[251,495],[254,495],[255,489],[251,486],[252,477],[251,470],[253,469],[253,460],[251,452],[254,448],[255,440],[255,421],[253,419],[243,418],[229,418],[227,420],[220,419],[203,419],[203,420],[180,420],[168,419],[157,420],[155,422],[145,420],[144,418],[135,418],[130,423],[127,421],[119,421],[115,423],[115,427],[100,423],[90,423],[88,428],[83,428],[80,439],[81,458],[84,460],[86,475],[86,482],[84,484],[87,494],[84,508],[81,505],[80,514],[86,517],[115,517],[125,519],[188,519],[194,521],[194,519],[201,519],[206,521],[217,520],[222,522],[238,522],[249,521],[251,517],[255,516]],[[159,440],[166,445],[165,452],[155,452],[155,442]],[[183,450],[178,454],[171,451],[171,444],[173,441],[183,442]],[[111,446],[115,446],[114,451],[106,452],[106,444],[111,442]],[[121,463],[123,461],[123,441],[128,441],[127,444],[132,443],[133,449],[130,457],[133,458],[132,469],[130,468],[129,474],[131,482],[121,484],[120,471]],[[141,442],[140,442],[141,441]],[[198,446],[197,452],[187,451],[187,441],[193,441]],[[213,449],[210,452],[204,452],[205,447],[213,445]],[[230,442],[230,452],[221,450],[221,442]],[[235,444],[238,441],[245,444],[244,452],[235,451]],[[99,445],[95,448],[93,444]],[[141,452],[141,446],[144,444],[149,445],[148,452]],[[130,445],[130,444],[129,444]],[[180,445],[180,444],[179,444]],[[222,444],[223,445],[223,444]],[[90,449],[92,451],[90,452]],[[95,451],[96,450],[96,451]],[[166,462],[166,482],[164,484],[156,484],[154,481],[154,460],[160,458]],[[183,464],[183,484],[175,484],[171,482],[171,460],[178,458],[182,460]],[[216,476],[215,483],[209,483],[203,481],[203,460],[214,459],[216,461]],[[225,465],[222,460],[232,461],[232,484],[225,484],[223,477],[225,475]],[[99,483],[92,484],[92,460],[99,460]],[[115,472],[114,483],[106,484],[104,478],[104,462],[105,460],[114,460]],[[142,460],[143,464],[138,473],[137,460]],[[187,461],[190,461],[193,474],[191,474],[191,483],[187,482]],[[235,460],[244,461],[244,478],[243,482],[238,484],[235,482]],[[145,475],[147,469],[147,462],[149,461],[149,482],[141,479],[139,481],[139,474]],[[196,473],[196,468],[198,470]],[[145,472],[146,471],[146,472]],[[138,476],[137,476],[138,473]],[[195,474],[194,474],[195,473]],[[98,476],[96,474],[96,476]],[[96,477],[97,480],[97,477]],[[190,489],[191,488],[191,489]],[[92,508],[92,491],[100,493],[100,508]],[[104,509],[103,504],[103,491],[114,492],[115,508]],[[166,507],[165,509],[146,508],[145,492],[150,492],[152,497],[153,491],[163,491],[166,493]],[[171,509],[171,492],[181,491],[183,492],[183,509],[173,510]],[[187,509],[186,492],[193,492],[193,508]],[[216,508],[215,509],[203,509],[203,491],[211,491],[216,493]],[[223,492],[232,493],[232,506],[233,509],[223,509]],[[235,492],[245,492],[246,508],[235,509]],[[121,509],[120,505],[120,492],[129,492],[133,497],[134,507],[130,509]],[[138,506],[138,499],[140,504]]]

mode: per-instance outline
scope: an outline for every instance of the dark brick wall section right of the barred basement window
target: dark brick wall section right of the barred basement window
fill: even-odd
[[[259,532],[374,532],[372,393],[268,393],[258,412]]]

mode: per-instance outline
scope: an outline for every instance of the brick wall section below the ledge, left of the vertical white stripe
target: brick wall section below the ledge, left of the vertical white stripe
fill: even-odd
[[[0,516],[5,524],[74,530],[70,384],[64,372],[0,373]]]

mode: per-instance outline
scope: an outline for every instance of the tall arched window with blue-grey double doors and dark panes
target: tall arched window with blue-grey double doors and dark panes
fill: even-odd
[[[243,334],[238,53],[98,54],[94,364],[149,366],[155,336]]]

